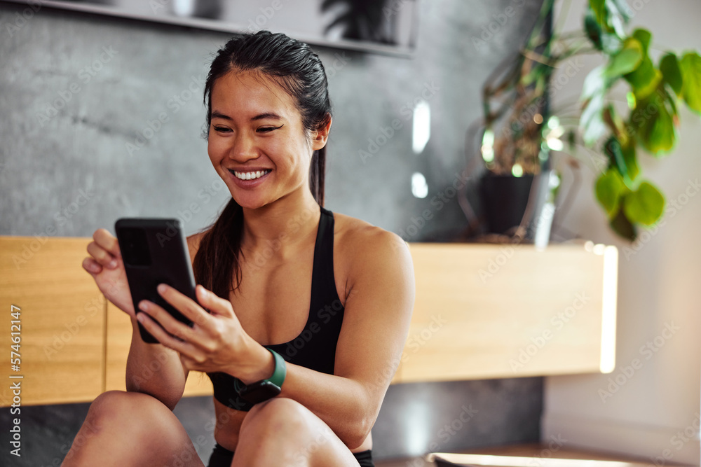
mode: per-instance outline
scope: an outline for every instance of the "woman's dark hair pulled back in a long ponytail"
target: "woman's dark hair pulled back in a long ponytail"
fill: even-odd
[[[306,43],[285,34],[260,31],[234,36],[212,60],[204,92],[207,128],[212,120],[212,87],[231,71],[256,71],[277,81],[294,97],[306,131],[320,129],[331,118],[326,73],[318,55]],[[314,151],[309,167],[309,188],[320,206],[324,205],[325,164],[324,147]],[[196,282],[229,300],[229,293],[241,282],[239,256],[243,257],[243,211],[233,197],[203,231],[193,262]]]

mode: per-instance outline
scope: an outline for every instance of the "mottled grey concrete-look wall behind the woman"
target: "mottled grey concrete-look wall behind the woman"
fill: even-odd
[[[440,210],[431,200],[449,194],[463,171],[482,83],[516,50],[539,6],[421,1],[411,59],[316,48],[335,109],[327,207],[409,241],[463,228],[454,198]],[[229,193],[200,137],[201,92],[227,34],[50,8],[22,21],[23,9],[0,2],[0,235],[89,236],[113,230],[121,216],[179,216],[189,234],[213,221]],[[431,139],[414,155],[407,110],[422,95]],[[372,153],[369,139],[383,141],[381,129],[394,120],[400,129],[362,160],[359,151]],[[428,180],[423,200],[411,195],[413,172]],[[426,209],[432,218],[411,235],[412,218]],[[393,386],[376,424],[376,453],[423,452],[470,403],[481,412],[442,447],[537,439],[541,394],[540,379]],[[22,429],[42,444],[27,445],[38,457],[26,465],[57,459],[72,431],[52,427],[79,425],[81,407],[74,419],[61,406],[32,409],[34,422]]]

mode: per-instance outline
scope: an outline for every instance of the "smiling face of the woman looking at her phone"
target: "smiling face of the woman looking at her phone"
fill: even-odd
[[[207,152],[240,206],[255,209],[309,190],[311,155],[326,137],[320,143],[318,132],[308,135],[294,97],[246,71],[217,79],[211,97]]]

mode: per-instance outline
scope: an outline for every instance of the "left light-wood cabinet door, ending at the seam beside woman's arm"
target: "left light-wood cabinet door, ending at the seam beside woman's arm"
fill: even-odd
[[[93,400],[104,391],[106,300],[81,268],[86,238],[0,237],[1,365],[10,369],[10,312],[20,308],[22,404]],[[11,403],[3,384],[2,405]]]

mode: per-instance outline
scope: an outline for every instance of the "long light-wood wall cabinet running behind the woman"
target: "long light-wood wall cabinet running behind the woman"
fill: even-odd
[[[90,240],[0,237],[0,365],[20,382],[23,405],[88,402],[125,389],[131,325],[81,267]],[[393,383],[613,370],[614,247],[409,247],[416,305]],[[21,321],[18,371],[13,309]],[[9,384],[2,387],[0,405],[11,405]],[[206,375],[191,373],[185,396],[211,393]]]

